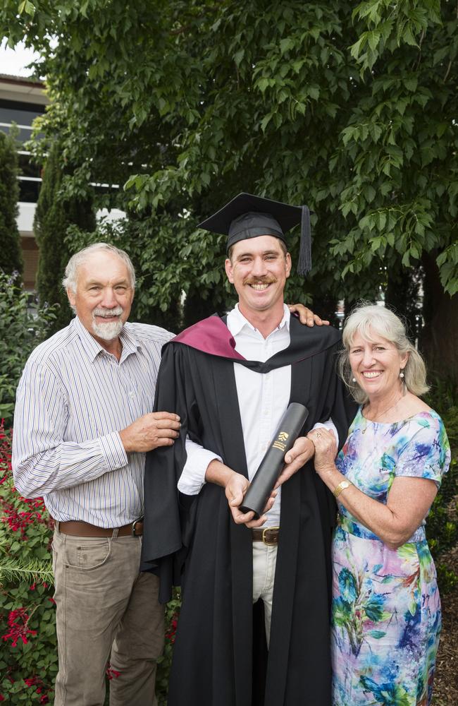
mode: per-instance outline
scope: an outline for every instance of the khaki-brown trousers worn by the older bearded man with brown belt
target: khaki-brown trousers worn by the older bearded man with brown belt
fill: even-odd
[[[116,532],[115,532],[116,533]],[[73,537],[54,531],[59,669],[54,706],[156,705],[163,648],[159,580],[140,574],[140,537]]]

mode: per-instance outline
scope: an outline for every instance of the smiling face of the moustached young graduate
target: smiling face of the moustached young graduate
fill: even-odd
[[[290,276],[291,257],[280,239],[260,235],[235,243],[225,261],[228,280],[239,296],[240,311],[283,309],[283,289]]]

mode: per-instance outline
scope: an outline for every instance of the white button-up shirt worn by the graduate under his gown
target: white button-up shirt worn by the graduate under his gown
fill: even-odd
[[[259,330],[240,313],[238,304],[228,313],[227,325],[235,339],[235,350],[247,360],[265,362],[290,345],[290,310],[283,305],[283,318],[278,327],[264,338]],[[248,477],[254,477],[271,443],[280,419],[290,401],[291,366],[283,366],[269,373],[256,373],[240,363],[234,363],[235,384],[242,420],[243,441],[247,458]],[[332,421],[315,426],[326,426],[337,431]],[[186,445],[187,461],[178,481],[178,489],[186,495],[197,495],[205,482],[205,473],[215,453],[197,444]],[[234,469],[237,471],[237,469]],[[281,487],[273,507],[267,513],[264,527],[280,524]]]

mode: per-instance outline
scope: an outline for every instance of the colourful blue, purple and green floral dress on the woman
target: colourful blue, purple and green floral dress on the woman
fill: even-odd
[[[440,484],[450,445],[435,412],[380,424],[361,408],[338,455],[342,474],[385,503],[396,476]],[[339,503],[333,539],[333,706],[427,706],[440,598],[424,521],[388,549]]]

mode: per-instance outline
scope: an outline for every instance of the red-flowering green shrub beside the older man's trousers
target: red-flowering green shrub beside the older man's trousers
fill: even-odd
[[[14,488],[11,432],[3,429],[0,484],[0,695],[12,704],[52,703],[57,671],[52,520],[41,499],[25,500]]]

